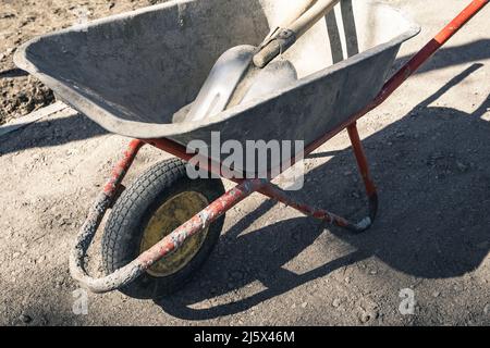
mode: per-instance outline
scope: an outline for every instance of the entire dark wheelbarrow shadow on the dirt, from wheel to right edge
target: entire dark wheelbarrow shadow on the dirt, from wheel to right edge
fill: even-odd
[[[284,264],[309,247],[324,226],[297,217],[241,235],[274,206],[266,201],[222,236],[218,252],[189,286],[158,304],[186,320],[230,315],[373,256],[421,278],[455,277],[478,268],[490,248],[490,215],[483,209],[490,202],[490,123],[480,119],[490,108],[490,97],[471,114],[430,104],[479,67],[471,65],[401,121],[364,141],[379,185],[379,219],[360,235],[329,227],[356,251],[301,275],[285,270]],[[345,176],[355,170],[351,149],[338,151],[310,171],[306,187],[292,195],[359,217],[364,210],[360,181],[353,186],[352,176]],[[211,308],[192,308],[257,281],[266,287],[258,294]]]

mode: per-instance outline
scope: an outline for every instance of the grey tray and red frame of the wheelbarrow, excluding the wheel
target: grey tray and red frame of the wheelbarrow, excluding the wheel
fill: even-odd
[[[296,83],[211,119],[182,122],[177,115],[196,98],[219,55],[233,46],[258,46],[277,25],[278,13],[292,3],[171,1],[44,36],[19,49],[16,64],[52,88],[61,99],[106,129],[138,139],[132,141],[114,170],[71,254],[72,275],[84,286],[96,293],[128,286],[254,191],[336,226],[353,232],[367,229],[376,217],[377,194],[356,120],[383,102],[488,0],[471,1],[388,82],[401,45],[417,35],[419,27],[388,5],[344,0],[334,13],[283,54],[298,73]],[[231,139],[241,144],[303,140],[308,154],[344,128],[348,129],[369,197],[369,215],[359,223],[292,201],[270,183],[272,177],[237,178],[235,188],[196,211],[197,214],[135,260],[127,260],[127,264],[103,278],[96,279],[86,273],[87,249],[144,144],[188,161],[193,157],[186,151],[189,141],[203,140],[210,146],[212,132],[220,132],[222,141]],[[219,162],[219,158],[211,156],[205,170],[221,174]],[[238,170],[249,174],[246,167]]]

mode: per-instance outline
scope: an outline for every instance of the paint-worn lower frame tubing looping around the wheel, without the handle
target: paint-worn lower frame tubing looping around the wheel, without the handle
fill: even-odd
[[[150,144],[156,146],[155,142]],[[163,145],[162,142],[159,142],[161,149],[167,149],[168,151],[183,159],[189,159],[191,154],[186,153],[185,148],[183,148],[182,146],[173,145],[172,141],[168,141],[167,147],[164,146],[164,144],[166,142],[163,142]],[[127,173],[143,145],[144,142],[140,140],[131,141],[128,149],[124,152],[123,159],[115,165],[109,182],[103,187],[102,192],[98,196],[96,202],[94,203],[94,207],[91,208],[86,222],[82,226],[81,232],[76,237],[75,245],[70,256],[70,272],[72,277],[79,282],[84,287],[97,294],[115,290],[124,285],[130,284],[139,275],[142,275],[146,270],[151,268],[151,265],[154,265],[156,262],[164,258],[170,252],[179,249],[189,237],[209,227],[209,225],[219,216],[224,214],[228,210],[240,203],[242,200],[244,200],[255,191],[259,191],[262,195],[266,195],[269,198],[294,208],[306,215],[323,220],[327,223],[346,228],[355,233],[364,232],[369,228],[376,217],[377,200],[375,200],[375,206],[370,206],[371,210],[369,217],[365,217],[358,223],[352,223],[346,219],[333,214],[329,211],[316,209],[308,204],[298,203],[290,199],[285,195],[285,192],[267,181],[241,181],[241,184],[206,207],[198,214],[194,215],[191,220],[179,226],[171,234],[169,234],[147,251],[143,252],[137,259],[135,259],[124,268],[119,269],[114,273],[101,278],[91,277],[85,271],[85,257],[87,254],[87,250],[94,239],[100,222],[102,221],[103,215],[113,202],[122,179]],[[359,159],[359,153],[362,153],[363,158],[365,158],[359,145],[356,145],[355,149],[357,159]],[[212,170],[212,166],[210,166],[210,170]],[[363,177],[365,179],[368,178],[368,176],[366,175],[363,175]],[[371,191],[369,197],[376,197],[376,190]]]

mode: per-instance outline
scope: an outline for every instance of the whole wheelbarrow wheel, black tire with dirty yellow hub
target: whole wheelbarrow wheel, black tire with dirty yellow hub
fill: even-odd
[[[109,215],[102,236],[106,272],[126,265],[223,194],[220,179],[188,178],[181,160],[156,164],[127,187]],[[183,287],[211,253],[223,221],[224,215],[120,290],[158,299]]]

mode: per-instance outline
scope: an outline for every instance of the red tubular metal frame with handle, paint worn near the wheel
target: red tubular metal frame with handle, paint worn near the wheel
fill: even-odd
[[[344,217],[338,216],[326,210],[316,209],[308,204],[298,203],[287,195],[272,185],[270,181],[265,179],[235,179],[237,186],[224,194],[218,200],[209,204],[200,213],[192,217],[185,224],[177,227],[169,236],[158,243],[148,251],[140,254],[136,260],[118,270],[117,272],[102,277],[90,277],[84,268],[84,258],[97,228],[107,211],[114,201],[121,183],[131,167],[139,149],[149,144],[158,149],[169,152],[184,161],[189,161],[195,154],[187,153],[186,148],[170,139],[152,139],[152,140],[133,140],[130,148],[124,153],[123,160],[115,166],[109,183],[105,186],[103,191],[99,195],[94,208],[83,225],[77,236],[76,244],[70,256],[70,270],[72,276],[82,285],[89,288],[94,293],[107,293],[118,289],[130,284],[137,278],[143,272],[150,268],[155,262],[161,260],[169,252],[177,249],[188,237],[205,229],[216,219],[224,214],[235,204],[247,198],[253,192],[260,192],[271,199],[282,202],[294,208],[306,215],[323,220],[333,225],[344,227],[352,232],[363,232],[369,228],[376,219],[378,210],[378,197],[376,186],[370,176],[368,161],[364,153],[359,134],[356,127],[356,121],[369,111],[387,100],[412,74],[414,74],[421,64],[424,64],[442,45],[444,45],[454,34],[456,34],[475,14],[477,14],[490,0],[474,0],[464,9],[449,25],[446,25],[433,39],[431,39],[417,54],[415,54],[396,74],[391,77],[383,86],[379,95],[366,108],[352,115],[346,122],[339,125],[332,132],[329,132],[318,140],[308,145],[305,156],[310,154],[327,140],[339,134],[343,129],[347,129],[351,138],[353,151],[357,161],[357,165],[363,177],[366,194],[369,198],[369,215],[359,223],[355,224]],[[292,159],[294,164],[295,159]],[[200,163],[203,165],[203,163]],[[215,174],[221,174],[221,165],[209,160],[205,170]],[[271,177],[272,178],[272,177]]]

